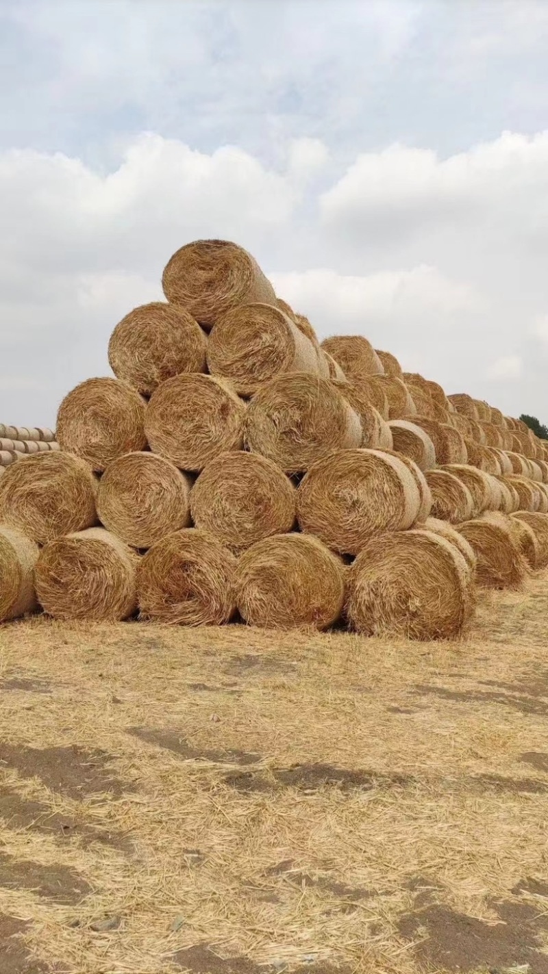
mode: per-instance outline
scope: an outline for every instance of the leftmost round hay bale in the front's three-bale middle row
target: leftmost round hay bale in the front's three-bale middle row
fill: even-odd
[[[124,453],[146,446],[144,410],[142,396],[120,379],[88,379],[59,406],[59,445],[103,470]]]

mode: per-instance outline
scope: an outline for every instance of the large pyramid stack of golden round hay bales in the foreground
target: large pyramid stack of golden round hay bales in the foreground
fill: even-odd
[[[236,244],[183,246],[116,325],[116,378],[0,482],[0,618],[457,635],[548,565],[548,450],[518,420],[320,343]],[[2,580],[10,579],[10,584]]]

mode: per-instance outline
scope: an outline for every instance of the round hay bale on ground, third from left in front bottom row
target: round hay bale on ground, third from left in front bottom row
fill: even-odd
[[[142,618],[221,625],[236,611],[234,555],[207,531],[184,528],[154,544],[137,569]]]

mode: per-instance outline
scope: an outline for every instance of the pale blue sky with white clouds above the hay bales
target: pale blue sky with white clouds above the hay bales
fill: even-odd
[[[0,0],[0,420],[110,374],[177,247],[548,422],[546,0]]]

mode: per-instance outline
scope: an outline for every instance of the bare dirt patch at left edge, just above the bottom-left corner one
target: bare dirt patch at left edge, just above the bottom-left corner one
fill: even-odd
[[[92,887],[72,869],[59,863],[44,866],[28,859],[16,859],[0,852],[0,886],[4,889],[29,889],[38,896],[65,905],[79,903]]]

